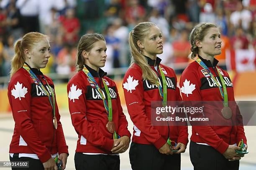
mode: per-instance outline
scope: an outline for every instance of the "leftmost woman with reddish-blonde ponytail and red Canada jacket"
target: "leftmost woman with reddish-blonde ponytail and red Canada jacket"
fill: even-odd
[[[15,42],[14,48],[8,85],[15,121],[10,161],[28,161],[26,170],[64,170],[68,146],[54,84],[40,71],[50,57],[49,40],[44,34],[30,32]]]

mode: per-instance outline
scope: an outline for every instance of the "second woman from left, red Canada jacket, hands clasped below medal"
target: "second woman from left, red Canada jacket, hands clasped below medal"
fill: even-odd
[[[131,133],[120,104],[118,88],[100,67],[106,62],[102,35],[85,34],[77,46],[77,74],[67,85],[69,112],[77,132],[76,170],[119,170],[119,154]]]

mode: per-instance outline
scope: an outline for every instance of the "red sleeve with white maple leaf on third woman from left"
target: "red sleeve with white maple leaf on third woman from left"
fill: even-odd
[[[129,80],[132,79],[133,81],[138,81],[138,85],[136,85],[135,90],[126,89],[130,89],[127,80],[128,78]],[[125,87],[124,84],[126,85]],[[161,148],[164,143],[166,143],[166,140],[164,140],[164,138],[160,135],[159,131],[151,125],[151,121],[148,119],[145,113],[145,105],[143,103],[143,81],[141,69],[133,67],[129,68],[123,80],[123,90],[126,106],[134,125],[136,125],[136,127],[141,130],[141,133],[143,133],[145,138],[150,143],[154,144],[157,149]]]

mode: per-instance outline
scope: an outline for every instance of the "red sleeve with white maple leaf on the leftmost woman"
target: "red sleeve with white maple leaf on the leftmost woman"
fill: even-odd
[[[19,87],[18,87],[19,86]],[[12,90],[23,89],[26,93],[23,97],[15,97],[12,95]],[[46,148],[44,143],[33,127],[31,122],[31,82],[26,78],[20,78],[19,80],[11,80],[8,86],[8,97],[10,106],[13,112],[13,119],[15,121],[16,128],[24,141],[28,144],[28,147],[36,153],[42,163],[51,158],[51,153]],[[14,91],[13,91],[14,92]]]

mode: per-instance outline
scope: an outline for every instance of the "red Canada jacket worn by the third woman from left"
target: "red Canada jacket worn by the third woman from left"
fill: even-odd
[[[154,69],[156,61],[157,66],[164,68],[164,74],[167,82],[167,101],[180,101],[181,96],[177,87],[177,77],[174,70],[170,67],[160,64],[159,57],[156,60],[146,57],[148,64]],[[157,67],[161,84],[162,78]],[[133,82],[138,82],[134,83]],[[131,65],[123,79],[123,90],[125,102],[128,108],[131,120],[134,123],[133,138],[134,143],[154,145],[157,149],[161,148],[168,139],[168,125],[153,126],[151,124],[151,102],[161,101],[159,89],[149,81],[142,79],[142,70],[137,64]],[[169,138],[176,143],[188,143],[187,126],[169,126]]]

